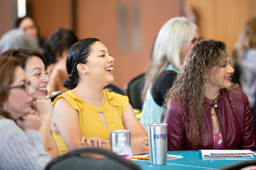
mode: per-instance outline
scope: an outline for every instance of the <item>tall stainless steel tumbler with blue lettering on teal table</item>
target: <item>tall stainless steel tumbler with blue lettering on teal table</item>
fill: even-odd
[[[167,159],[167,124],[147,124],[151,165],[165,165]]]

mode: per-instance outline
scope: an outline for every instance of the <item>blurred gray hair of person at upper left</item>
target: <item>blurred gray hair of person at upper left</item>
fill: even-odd
[[[38,40],[28,35],[22,29],[14,28],[6,32],[0,39],[0,50],[5,52],[9,49],[25,48],[43,52]]]

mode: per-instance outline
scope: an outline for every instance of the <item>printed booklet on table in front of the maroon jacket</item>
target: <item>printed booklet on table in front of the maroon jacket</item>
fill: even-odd
[[[213,160],[254,160],[255,152],[250,150],[200,150],[202,159]]]

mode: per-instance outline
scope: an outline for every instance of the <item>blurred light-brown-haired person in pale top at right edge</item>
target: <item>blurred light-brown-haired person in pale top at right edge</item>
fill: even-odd
[[[251,110],[256,100],[256,18],[249,20],[235,45],[234,59],[239,68],[239,83],[248,96]]]

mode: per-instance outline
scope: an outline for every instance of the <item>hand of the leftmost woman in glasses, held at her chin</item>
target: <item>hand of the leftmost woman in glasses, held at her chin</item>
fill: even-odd
[[[16,121],[17,125],[23,130],[39,130],[41,126],[40,118],[37,115],[37,112],[31,110],[29,114],[22,116]]]

